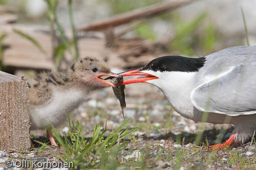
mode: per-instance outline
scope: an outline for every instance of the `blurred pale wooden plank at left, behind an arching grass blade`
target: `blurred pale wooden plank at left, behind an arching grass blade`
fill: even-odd
[[[13,32],[20,30],[37,40],[46,54],[42,53],[32,42]],[[5,25],[0,29],[1,33],[7,33],[3,45],[7,46],[3,54],[3,64],[19,68],[53,69],[51,54],[51,38],[44,33],[45,27],[25,25]]]

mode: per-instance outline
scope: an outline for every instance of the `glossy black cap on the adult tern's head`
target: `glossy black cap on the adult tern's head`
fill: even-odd
[[[152,60],[147,65],[140,68],[142,70],[153,71],[198,71],[204,65],[205,58],[187,58],[181,56],[163,56]]]

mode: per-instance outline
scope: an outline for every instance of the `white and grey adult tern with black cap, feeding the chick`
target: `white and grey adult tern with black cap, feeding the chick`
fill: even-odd
[[[233,124],[229,139],[212,145],[219,149],[244,143],[256,124],[256,46],[234,46],[202,58],[164,56],[121,76],[124,80],[157,86],[182,116],[212,124]]]

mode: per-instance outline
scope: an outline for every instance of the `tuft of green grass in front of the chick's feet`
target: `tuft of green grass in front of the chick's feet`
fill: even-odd
[[[120,163],[117,160],[117,154],[124,149],[130,141],[122,141],[120,145],[115,145],[118,143],[118,140],[120,141],[121,139],[124,139],[126,136],[138,129],[123,129],[130,119],[131,118],[125,120],[125,122],[123,122],[119,128],[112,131],[112,134],[106,135],[105,139],[104,134],[106,131],[106,124],[102,132],[100,131],[101,127],[95,125],[92,139],[89,142],[86,142],[86,140],[84,140],[85,136],[83,135],[82,126],[78,121],[76,124],[73,121],[70,122],[70,117],[68,114],[70,127],[68,132],[69,136],[65,135],[67,133],[63,133],[63,137],[60,136],[56,129],[52,127],[55,139],[58,141],[61,148],[63,148],[63,154],[57,157],[66,162],[73,162],[75,167],[80,169],[97,168],[100,166],[103,169],[113,169],[114,167],[119,166]],[[96,162],[94,158],[92,159],[92,154],[98,155],[100,157],[100,162]]]

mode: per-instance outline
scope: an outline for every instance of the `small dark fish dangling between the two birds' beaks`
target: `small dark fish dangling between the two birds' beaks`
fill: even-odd
[[[111,78],[111,83],[116,85],[116,87],[112,87],[112,88],[113,88],[114,94],[116,95],[116,98],[120,102],[120,106],[123,114],[123,111],[126,108],[125,95],[124,95],[125,86],[124,85],[119,86],[119,84],[123,81],[123,77],[119,76],[119,77],[110,77],[110,78]],[[110,79],[110,78],[107,78],[107,79]],[[123,114],[123,118],[124,118],[124,114]]]

